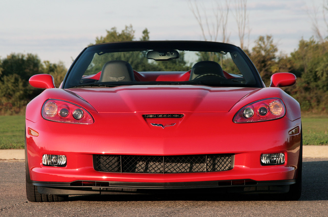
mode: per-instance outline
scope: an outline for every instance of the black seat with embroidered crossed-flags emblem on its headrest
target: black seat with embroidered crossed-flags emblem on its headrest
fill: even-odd
[[[127,61],[112,60],[101,69],[99,82],[135,81],[132,66]]]

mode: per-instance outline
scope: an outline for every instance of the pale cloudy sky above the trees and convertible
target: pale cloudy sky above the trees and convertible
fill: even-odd
[[[192,0],[193,1],[193,0]],[[224,0],[218,0],[225,5]],[[51,63],[62,61],[67,68],[96,37],[116,27],[119,32],[132,25],[135,39],[148,28],[150,40],[201,40],[201,29],[189,7],[189,0],[10,0],[0,1],[0,58],[11,53],[37,54]],[[198,0],[209,22],[213,1]],[[229,0],[228,0],[229,2]],[[234,0],[228,17],[229,42],[240,46],[233,16]],[[314,8],[320,31],[323,0],[247,0],[249,49],[260,35],[272,35],[279,53],[290,54],[302,38],[314,35],[310,15]],[[328,15],[327,15],[328,16]],[[217,41],[221,41],[219,36]],[[249,41],[249,42],[248,42]]]

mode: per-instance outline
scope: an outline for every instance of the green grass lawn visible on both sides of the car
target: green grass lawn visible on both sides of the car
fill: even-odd
[[[328,117],[302,117],[303,144],[328,145]],[[0,149],[24,148],[25,116],[0,116]]]

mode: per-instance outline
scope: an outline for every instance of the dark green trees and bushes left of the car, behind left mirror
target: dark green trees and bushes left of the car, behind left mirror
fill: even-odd
[[[66,74],[62,62],[41,62],[37,55],[10,54],[0,61],[0,114],[19,114],[26,104],[43,90],[33,88],[29,78],[36,74],[51,74],[57,87]]]

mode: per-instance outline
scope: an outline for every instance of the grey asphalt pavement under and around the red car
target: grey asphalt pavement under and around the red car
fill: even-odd
[[[302,175],[298,201],[256,194],[154,194],[71,195],[65,202],[33,203],[26,198],[24,160],[0,160],[0,216],[328,217],[328,158],[303,158]]]

